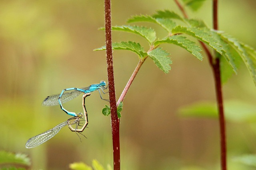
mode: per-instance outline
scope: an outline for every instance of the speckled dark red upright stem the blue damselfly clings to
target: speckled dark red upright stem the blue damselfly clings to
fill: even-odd
[[[112,56],[112,36],[111,36],[111,2],[104,1],[105,8],[105,37],[106,37],[106,58],[108,70],[108,86],[110,99],[110,115],[113,143],[114,170],[120,170],[120,139],[119,139],[119,119],[116,111],[116,93],[114,84],[114,69]]]

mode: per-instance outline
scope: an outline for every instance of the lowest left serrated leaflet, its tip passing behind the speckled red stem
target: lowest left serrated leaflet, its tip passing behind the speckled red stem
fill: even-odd
[[[128,41],[128,42],[122,41],[120,43],[112,43],[112,49],[129,50],[138,54],[139,58],[144,58],[148,55],[139,43],[135,43],[132,41]],[[100,47],[98,49],[94,49],[94,51],[99,51],[99,50],[106,50],[106,46]]]

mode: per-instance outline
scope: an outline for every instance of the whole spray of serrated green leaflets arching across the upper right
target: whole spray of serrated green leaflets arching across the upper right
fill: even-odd
[[[183,1],[192,10],[197,10],[204,2],[204,0]],[[256,84],[256,51],[224,32],[208,28],[201,20],[183,18],[175,12],[164,10],[157,11],[152,16],[133,16],[127,22],[150,22],[160,25],[167,32],[167,37],[157,38],[154,29],[144,26],[114,26],[112,27],[113,31],[134,33],[143,37],[149,44],[149,50],[144,51],[140,43],[133,41],[113,43],[113,49],[132,51],[138,55],[140,61],[144,61],[147,57],[150,57],[160,70],[168,73],[171,69],[170,64],[172,64],[171,59],[168,57],[170,54],[160,48],[159,45],[163,43],[178,45],[202,61],[201,48],[196,45],[196,42],[187,39],[188,36],[194,37],[217,52],[218,55],[216,57],[220,58],[222,82],[228,80],[233,73],[237,74],[241,61],[244,61]],[[106,47],[103,46],[95,50],[106,50]]]

